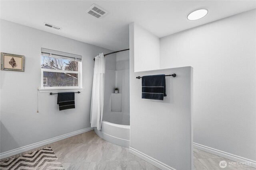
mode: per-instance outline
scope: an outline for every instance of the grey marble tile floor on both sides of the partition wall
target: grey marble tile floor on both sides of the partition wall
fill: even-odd
[[[128,148],[109,143],[89,131],[47,146],[52,147],[65,170],[160,170],[131,154]],[[234,165],[234,161],[194,149],[194,170],[256,170],[250,166]],[[232,166],[220,168],[225,160]],[[233,163],[232,163],[233,162]]]

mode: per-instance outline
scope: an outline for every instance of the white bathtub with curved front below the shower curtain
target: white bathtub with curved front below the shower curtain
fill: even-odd
[[[101,130],[94,128],[95,133],[110,143],[121,147],[130,147],[130,125],[119,125],[102,121]]]

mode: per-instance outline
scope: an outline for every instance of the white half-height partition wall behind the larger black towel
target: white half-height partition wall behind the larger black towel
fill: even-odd
[[[134,72],[136,27],[130,24],[130,151],[160,168],[192,169],[192,68]],[[150,42],[148,42],[150,43]],[[143,49],[141,49],[143,50]],[[145,61],[146,63],[146,61]],[[141,98],[141,79],[136,76],[172,74],[166,77],[163,101]],[[141,153],[141,154],[140,154]],[[144,154],[148,155],[145,156]],[[144,155],[144,156],[143,156]],[[154,162],[153,160],[158,162]]]

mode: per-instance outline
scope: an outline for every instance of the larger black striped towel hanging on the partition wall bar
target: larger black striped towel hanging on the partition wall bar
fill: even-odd
[[[153,100],[164,100],[165,75],[142,76],[142,98]]]

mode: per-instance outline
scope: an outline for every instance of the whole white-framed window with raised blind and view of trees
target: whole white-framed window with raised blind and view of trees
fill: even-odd
[[[41,49],[41,88],[82,88],[82,56]]]

